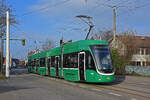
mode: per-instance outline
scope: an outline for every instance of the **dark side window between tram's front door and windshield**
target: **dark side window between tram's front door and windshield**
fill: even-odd
[[[95,69],[95,64],[92,55],[86,52],[86,69]]]

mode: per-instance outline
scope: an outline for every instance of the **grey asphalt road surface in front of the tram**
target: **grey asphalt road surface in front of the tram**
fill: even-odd
[[[28,74],[26,69],[13,69],[11,74],[9,79],[0,80],[0,100],[149,100],[110,88],[128,86],[125,80],[130,78],[114,84],[85,84]]]

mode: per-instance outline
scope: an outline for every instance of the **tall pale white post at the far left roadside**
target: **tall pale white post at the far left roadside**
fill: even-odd
[[[9,10],[6,12],[6,77],[9,77]]]

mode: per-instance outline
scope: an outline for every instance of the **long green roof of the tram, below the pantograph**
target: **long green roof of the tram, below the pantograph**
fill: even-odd
[[[99,41],[99,40],[79,40],[76,42],[68,43],[64,45],[64,54],[79,52],[82,50],[90,50],[89,45],[108,45],[107,41]],[[29,59],[34,58],[43,58],[46,56],[57,56],[61,55],[61,46],[52,48],[49,50],[45,50],[36,54],[29,56]]]

